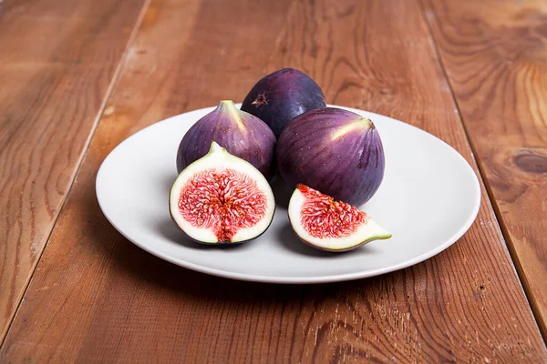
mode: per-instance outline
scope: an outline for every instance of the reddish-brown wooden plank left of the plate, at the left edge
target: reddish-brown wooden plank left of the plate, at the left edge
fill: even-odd
[[[142,3],[0,4],[0,341],[67,196]]]

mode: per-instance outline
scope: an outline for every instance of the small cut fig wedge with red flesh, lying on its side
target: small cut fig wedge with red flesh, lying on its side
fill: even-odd
[[[294,233],[304,243],[327,251],[346,251],[391,234],[345,202],[298,185],[289,202]]]

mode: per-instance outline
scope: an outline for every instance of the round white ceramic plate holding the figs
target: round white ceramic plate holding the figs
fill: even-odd
[[[119,144],[98,170],[98,203],[110,223],[151,254],[203,273],[276,283],[320,283],[366,278],[406,268],[449,248],[471,226],[480,186],[470,165],[435,136],[401,121],[370,117],[382,137],[386,172],[377,194],[362,207],[393,238],[346,253],[304,245],[278,203],[272,226],[251,242],[220,248],[182,236],[170,219],[168,197],[177,176],[182,136],[213,107],[173,116]],[[274,181],[279,201],[291,191]],[[286,205],[285,205],[286,206]]]

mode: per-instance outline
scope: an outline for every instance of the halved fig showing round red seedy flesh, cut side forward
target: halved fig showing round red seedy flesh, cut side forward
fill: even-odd
[[[258,169],[212,142],[209,153],[176,178],[169,209],[189,238],[234,244],[263,234],[274,218],[275,200]]]

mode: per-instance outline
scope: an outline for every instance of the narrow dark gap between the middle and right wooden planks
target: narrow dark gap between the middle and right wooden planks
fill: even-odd
[[[442,76],[444,77],[445,81],[447,82],[447,85],[449,86],[450,96],[452,97],[454,106],[456,106],[456,109],[458,110],[459,124],[461,125],[461,128],[463,129],[463,132],[466,136],[468,145],[471,150],[471,157],[477,164],[477,168],[479,169],[480,179],[482,179],[482,182],[484,183],[484,188],[489,198],[490,207],[494,211],[494,216],[496,217],[496,221],[498,222],[498,226],[500,227],[501,236],[503,237],[503,240],[505,241],[505,247],[507,248],[509,252],[509,256],[511,257],[512,268],[516,272],[517,277],[519,278],[521,282],[521,288],[522,288],[522,291],[524,292],[524,297],[526,297],[526,300],[528,301],[528,306],[531,308],[532,316],[533,316],[533,319],[535,319],[536,326],[540,329],[540,332],[542,333],[543,342],[547,343],[547,328],[544,328],[541,324],[542,319],[540,315],[540,308],[535,304],[535,301],[532,299],[532,296],[533,296],[532,289],[530,288],[530,284],[523,273],[521,260],[519,259],[517,252],[515,251],[513,245],[511,244],[511,236],[509,234],[507,227],[505,226],[505,223],[503,222],[503,218],[501,217],[500,207],[498,206],[498,203],[496,202],[496,198],[494,197],[492,187],[490,187],[490,181],[488,177],[486,176],[486,172],[484,171],[484,167],[482,166],[482,161],[480,160],[480,156],[476,153],[477,149],[473,145],[473,141],[470,138],[470,132],[467,126],[465,125],[465,123],[463,122],[463,116],[461,115],[461,112],[459,109],[458,99],[456,97],[456,94],[454,93],[454,90],[452,89],[449,76],[442,62],[442,58],[439,53],[439,47],[437,46],[437,42],[435,41],[435,36],[433,35],[433,31],[431,29],[431,24],[429,23],[428,16],[426,16],[426,11],[425,11],[424,5],[422,4],[422,0],[417,0],[417,2],[420,8],[420,13],[422,17],[424,18],[424,22],[426,23],[426,27],[428,29],[429,41],[431,43],[431,47],[433,48],[433,52],[435,53],[435,57],[437,58],[437,61],[439,62],[440,70],[442,71]]]

